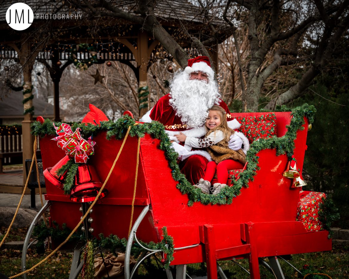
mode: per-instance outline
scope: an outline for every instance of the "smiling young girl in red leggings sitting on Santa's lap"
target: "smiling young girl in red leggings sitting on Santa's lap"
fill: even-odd
[[[227,186],[228,170],[243,168],[246,163],[246,156],[242,149],[238,151],[228,148],[228,141],[234,130],[228,127],[227,112],[217,105],[209,109],[205,126],[207,133],[205,138],[188,137],[183,133],[175,135],[177,140],[185,142],[194,148],[206,148],[213,161],[208,162],[205,169],[205,175],[199,180],[195,187],[202,190],[203,193],[217,195],[224,186]],[[218,183],[211,186],[211,180],[217,170]]]

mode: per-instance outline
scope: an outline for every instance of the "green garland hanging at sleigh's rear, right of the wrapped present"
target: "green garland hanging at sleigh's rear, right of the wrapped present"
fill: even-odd
[[[334,234],[331,231],[331,225],[333,222],[339,220],[340,215],[332,199],[321,198],[321,200],[322,203],[319,203],[319,221],[324,226],[324,229],[328,231],[328,238],[330,239]]]

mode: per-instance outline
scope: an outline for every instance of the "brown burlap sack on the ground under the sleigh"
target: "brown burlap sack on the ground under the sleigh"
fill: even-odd
[[[114,256],[113,254],[109,254],[104,257],[104,263],[102,257],[95,259],[95,278],[101,279],[103,277],[107,278],[107,271],[109,273],[109,277],[111,278],[124,278],[124,263],[125,263],[125,254],[118,253],[118,256]],[[136,261],[131,256],[130,257],[130,270],[135,265]]]

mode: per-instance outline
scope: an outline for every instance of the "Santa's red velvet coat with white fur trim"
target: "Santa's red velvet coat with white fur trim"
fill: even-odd
[[[159,121],[165,126],[165,131],[169,134],[170,139],[177,143],[178,143],[177,138],[174,137],[174,135],[179,134],[179,132],[182,132],[186,136],[196,137],[196,138],[200,138],[206,134],[207,129],[205,125],[203,125],[200,128],[191,128],[191,127],[188,127],[185,123],[182,123],[181,119],[176,115],[176,111],[169,104],[169,100],[170,100],[169,94],[160,98],[155,104],[155,106],[141,118],[141,121],[142,122],[151,122],[152,120]],[[231,129],[236,130],[235,134],[243,140],[243,151],[246,154],[246,151],[250,147],[250,144],[246,136],[243,133],[237,131],[237,129],[240,127],[240,123],[236,119],[233,119],[231,117],[229,108],[227,104],[224,103],[224,101],[221,101],[219,105],[222,108],[224,108],[224,110],[227,112],[228,126]],[[184,160],[193,154],[200,154],[206,157],[208,160],[211,160],[208,152],[204,150],[192,150],[192,148],[187,145],[185,145],[185,148],[187,149],[187,152],[185,154],[180,154],[181,160]]]

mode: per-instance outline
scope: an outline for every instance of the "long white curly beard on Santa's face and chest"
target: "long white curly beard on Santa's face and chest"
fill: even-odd
[[[220,103],[221,94],[215,81],[189,80],[188,74],[181,72],[174,76],[170,88],[170,105],[182,123],[191,128],[201,127],[208,109]]]

